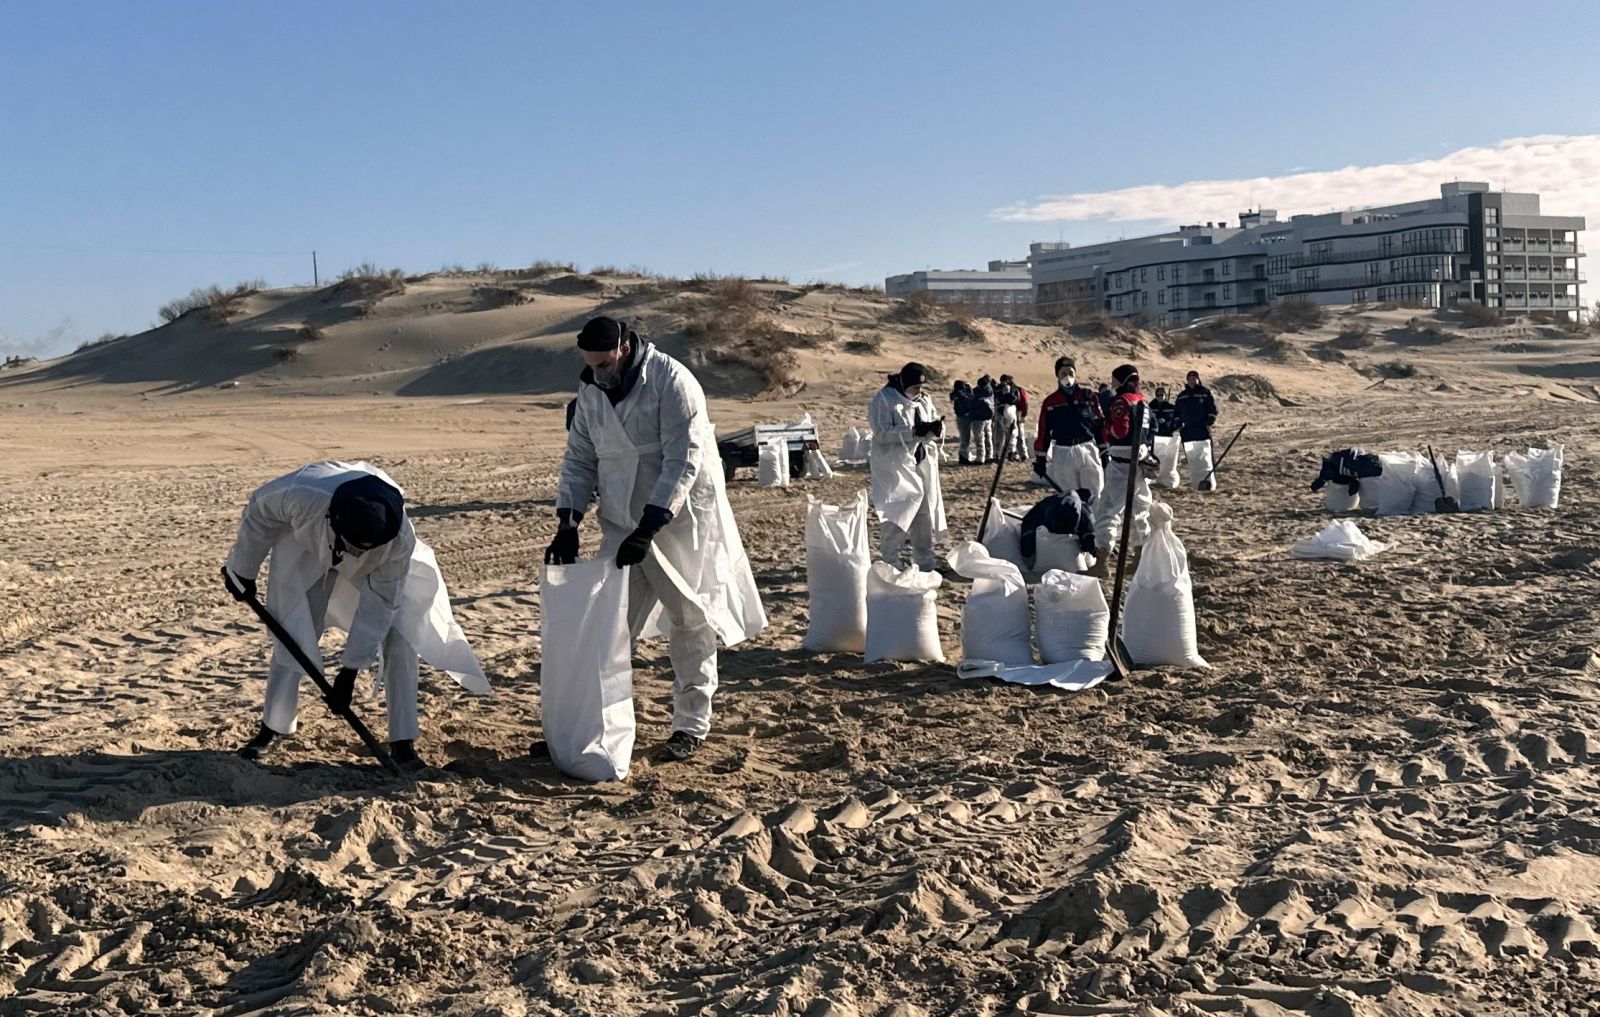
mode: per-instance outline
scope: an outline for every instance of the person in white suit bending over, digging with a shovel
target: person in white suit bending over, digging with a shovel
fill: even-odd
[[[262,608],[256,576],[269,555]],[[389,707],[387,755],[408,771],[424,766],[416,753],[419,654],[469,692],[490,691],[450,612],[434,550],[418,540],[405,515],[400,488],[366,462],[314,462],[251,494],[222,582],[275,636],[261,729],[238,752],[246,760],[261,760],[278,739],[294,734],[299,680],[307,670],[317,672],[312,676],[325,688],[330,708],[382,760],[350,712],[357,673],[376,665]],[[317,641],[328,627],[349,633],[331,688],[315,664]]]

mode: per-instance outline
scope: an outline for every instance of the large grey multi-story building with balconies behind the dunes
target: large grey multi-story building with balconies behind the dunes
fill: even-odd
[[[1571,317],[1581,305],[1581,216],[1546,216],[1539,195],[1453,182],[1438,198],[1293,216],[1272,209],[1086,248],[1029,251],[1042,317],[1101,310],[1182,325],[1274,301],[1475,301],[1518,313]]]

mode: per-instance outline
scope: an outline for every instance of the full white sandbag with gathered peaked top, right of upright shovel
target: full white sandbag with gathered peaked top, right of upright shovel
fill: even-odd
[[[1211,667],[1195,638],[1189,552],[1173,532],[1173,510],[1163,502],[1150,505],[1150,537],[1122,612],[1122,644],[1138,665]]]

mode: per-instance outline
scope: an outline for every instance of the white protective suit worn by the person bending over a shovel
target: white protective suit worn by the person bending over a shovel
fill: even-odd
[[[328,504],[339,485],[362,473],[400,489],[366,462],[314,462],[256,489],[238,521],[227,569],[254,580],[270,553],[267,611],[312,660],[330,627],[349,633],[341,667],[365,670],[381,660],[389,740],[413,740],[418,656],[469,692],[483,696],[490,683],[450,611],[434,548],[416,539],[410,518],[402,520],[400,534],[389,544],[363,553],[347,550],[333,563]],[[294,734],[299,683],[299,664],[274,640],[262,723],[278,734]]]

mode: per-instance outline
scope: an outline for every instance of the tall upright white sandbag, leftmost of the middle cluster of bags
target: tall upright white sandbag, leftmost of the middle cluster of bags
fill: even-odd
[[[867,648],[867,493],[850,505],[806,499],[805,571],[811,624],[805,649],[862,652]]]

